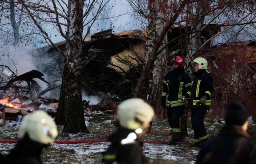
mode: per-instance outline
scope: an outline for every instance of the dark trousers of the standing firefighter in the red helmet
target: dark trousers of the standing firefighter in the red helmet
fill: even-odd
[[[181,116],[184,113],[186,106],[174,106],[167,108],[167,120],[172,128],[172,140],[182,141],[183,136],[181,133]]]

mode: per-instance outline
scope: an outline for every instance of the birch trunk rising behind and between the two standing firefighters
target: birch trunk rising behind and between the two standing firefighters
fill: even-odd
[[[189,35],[188,40],[188,53],[185,58],[185,70],[189,75],[193,73],[192,61],[196,58],[196,53],[199,51],[201,43],[201,32],[200,30],[203,27],[204,17],[206,15],[208,0],[197,2],[196,4],[196,13],[193,15],[194,20],[191,23],[192,34]],[[199,31],[195,32],[194,31]],[[181,117],[181,130],[184,136],[188,135],[187,132],[187,121],[188,121],[188,109],[185,109],[183,116]]]

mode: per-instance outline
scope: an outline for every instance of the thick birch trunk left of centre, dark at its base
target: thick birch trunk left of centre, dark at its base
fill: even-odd
[[[83,0],[68,1],[67,36],[75,44],[67,42],[65,47],[63,79],[60,102],[55,121],[64,125],[64,132],[87,132],[82,109],[82,33],[83,33]],[[71,94],[72,93],[72,94]]]

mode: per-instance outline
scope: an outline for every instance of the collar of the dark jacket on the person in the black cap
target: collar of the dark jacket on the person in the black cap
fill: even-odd
[[[225,125],[221,129],[218,135],[221,136],[225,134],[229,134],[229,135],[235,134],[235,135],[243,136],[246,138],[250,138],[249,134],[244,132],[244,130],[242,129],[242,126],[239,126],[239,125]]]

